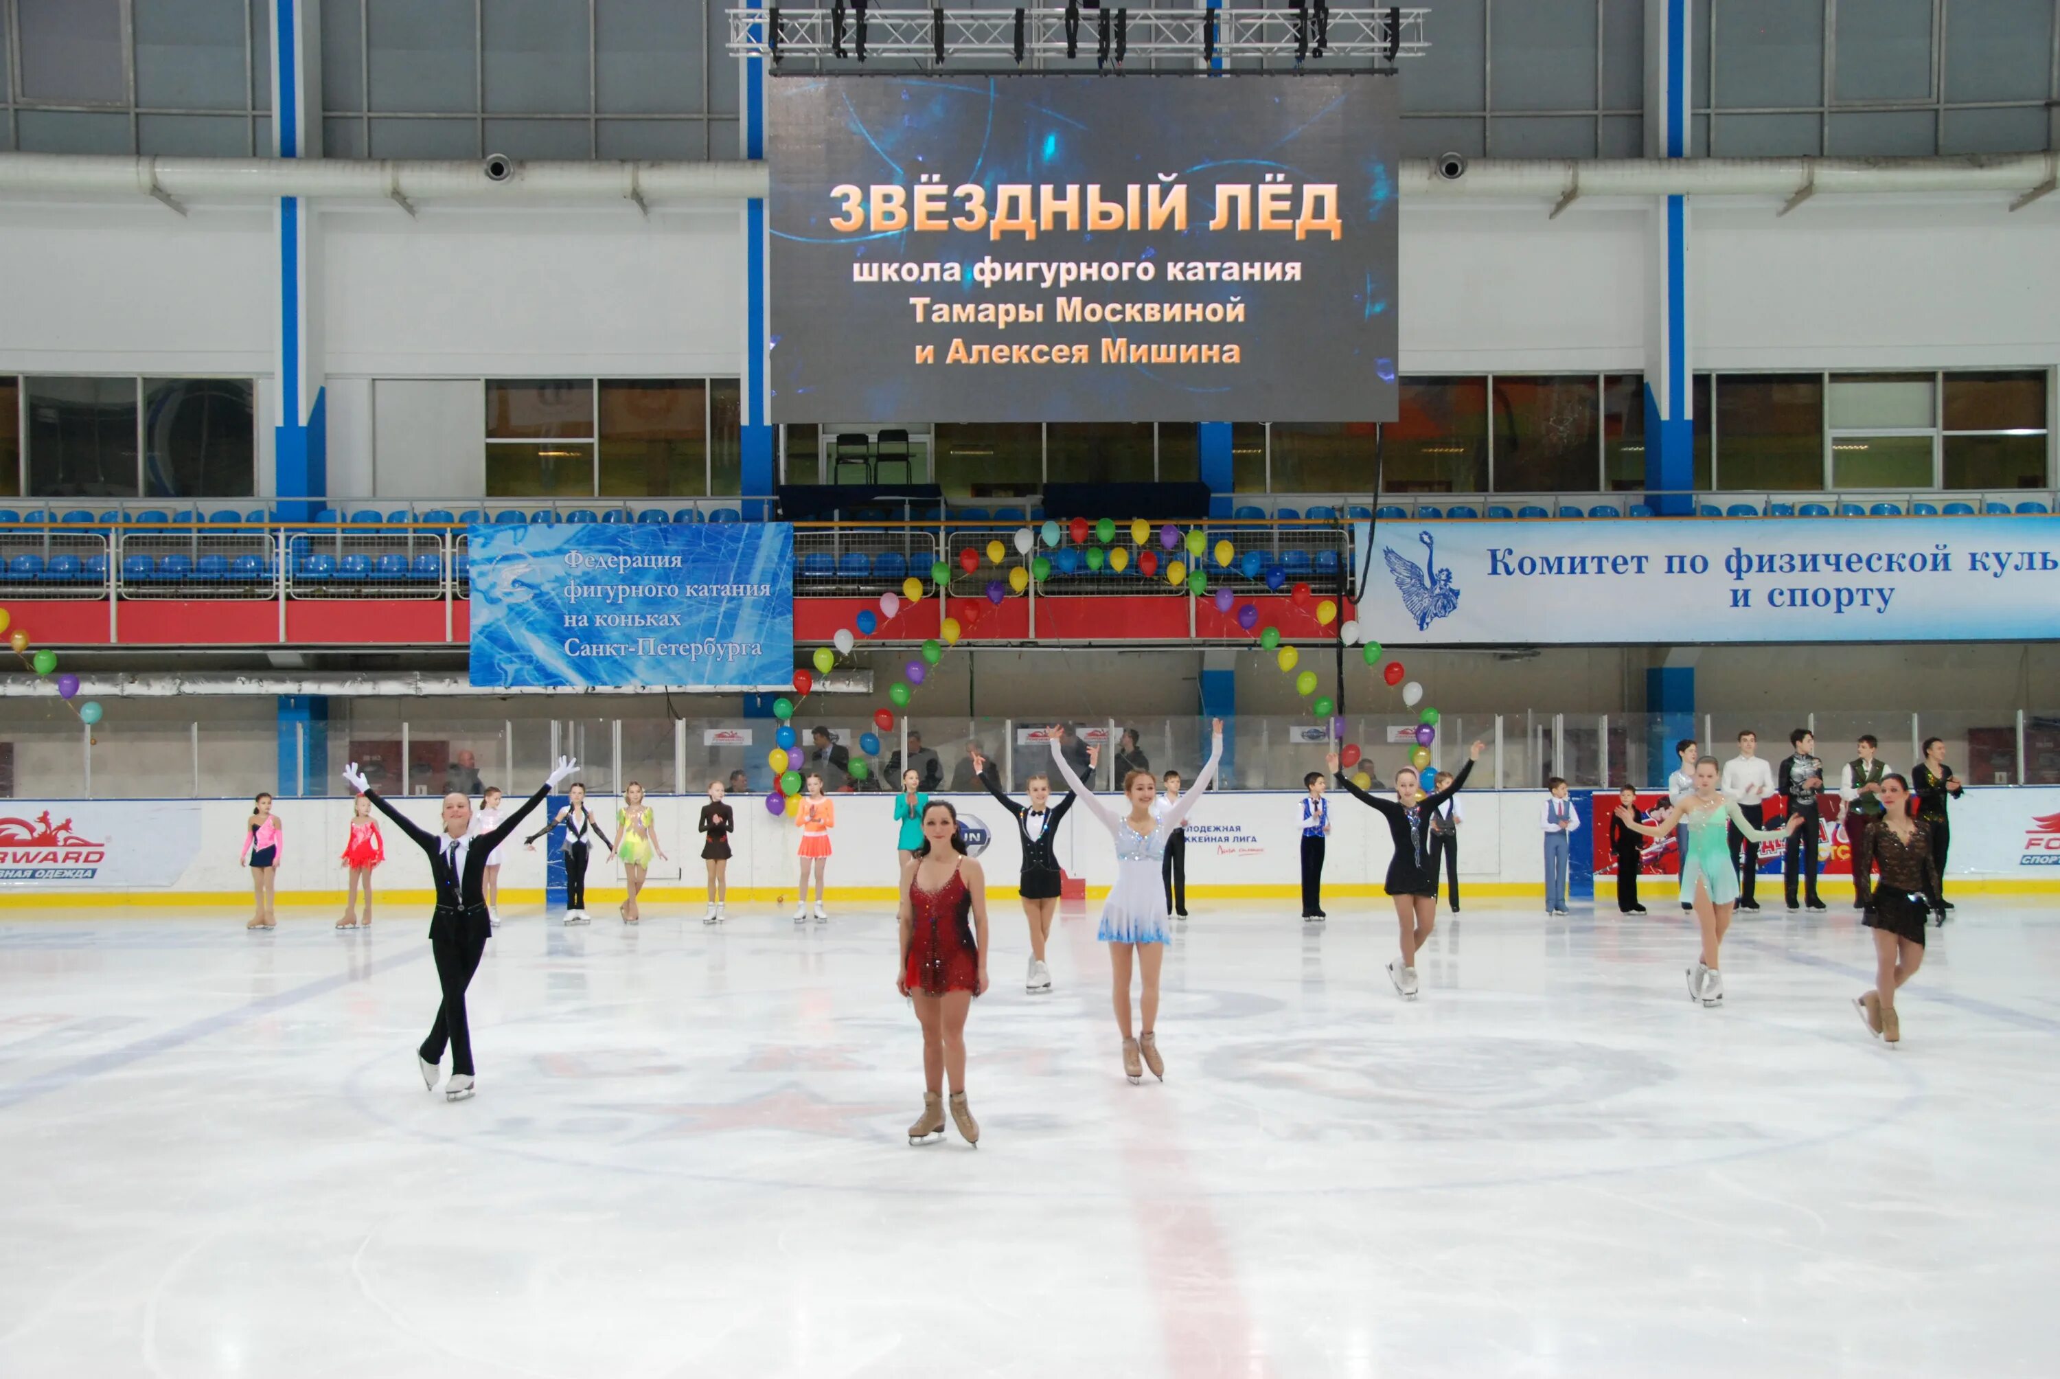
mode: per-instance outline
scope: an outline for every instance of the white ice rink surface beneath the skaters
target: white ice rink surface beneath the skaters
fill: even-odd
[[[1895,1051],[1850,909],[1704,1010],[1671,905],[1442,915],[1413,1004],[1384,905],[1199,909],[1129,1086],[1094,919],[1032,998],[997,903],[976,1152],[906,1144],[880,911],[509,911],[457,1105],[412,909],[4,919],[0,1375],[2060,1369],[2050,905],[1934,930]]]

